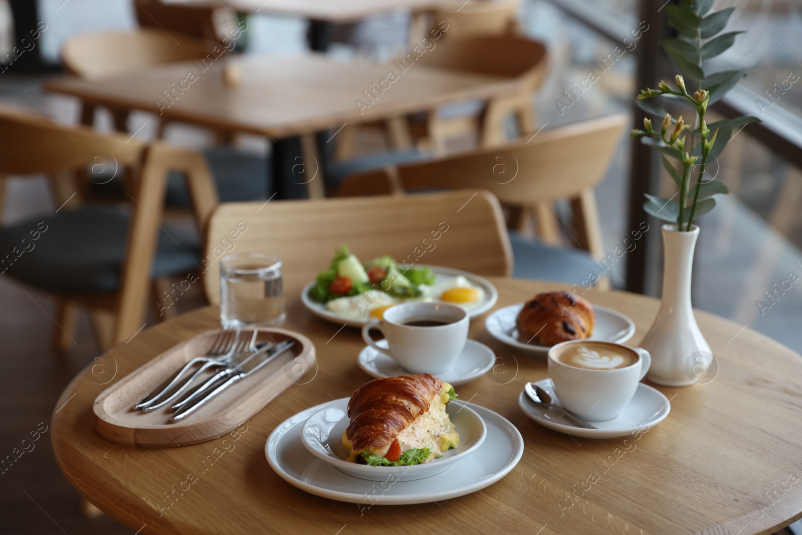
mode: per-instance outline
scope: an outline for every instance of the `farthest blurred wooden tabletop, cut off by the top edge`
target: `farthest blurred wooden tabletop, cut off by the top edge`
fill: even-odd
[[[455,6],[457,0],[183,0],[180,3],[226,6],[245,13],[284,14],[326,22],[356,22],[394,10],[425,11]]]

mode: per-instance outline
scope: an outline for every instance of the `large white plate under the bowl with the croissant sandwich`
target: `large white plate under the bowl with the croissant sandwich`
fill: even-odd
[[[504,476],[506,476],[509,472],[512,472],[512,468],[515,468],[516,465],[520,462],[522,456],[524,456],[525,444],[524,444],[524,437],[521,436],[520,431],[515,425],[512,424],[508,419],[504,418],[504,416],[500,415],[496,411],[491,411],[488,408],[482,407],[480,405],[476,405],[476,403],[468,403],[466,401],[461,402],[464,403],[466,407],[472,408],[477,413],[481,411],[485,411],[495,419],[496,425],[499,428],[503,428],[505,432],[509,432],[514,437],[514,443],[512,444],[514,454],[513,458],[508,461],[507,464],[504,465],[504,468],[501,468],[498,472],[494,473],[492,476],[485,478],[477,482],[476,484],[468,485],[468,487],[455,489],[450,492],[439,492],[435,495],[427,494],[426,496],[420,495],[411,495],[411,496],[373,496],[373,501],[366,501],[364,496],[361,495],[354,495],[350,494],[349,492],[338,492],[338,491],[330,491],[326,489],[322,489],[319,487],[314,486],[313,484],[308,484],[303,481],[294,479],[294,477],[290,476],[290,474],[286,473],[278,464],[274,462],[273,459],[270,458],[269,455],[269,445],[274,439],[277,434],[282,433],[282,428],[286,427],[286,424],[293,419],[302,419],[303,422],[306,422],[306,419],[309,418],[310,415],[314,414],[314,412],[320,410],[322,407],[330,404],[330,403],[337,403],[338,401],[342,401],[343,399],[347,400],[349,398],[341,398],[335,399],[334,401],[327,401],[324,403],[320,403],[319,405],[315,405],[314,407],[310,407],[304,411],[299,412],[298,414],[290,416],[290,418],[284,420],[281,424],[278,424],[274,429],[273,432],[270,432],[270,435],[267,437],[267,441],[265,442],[265,457],[267,458],[267,462],[270,465],[270,468],[273,468],[273,472],[276,472],[282,480],[285,480],[287,483],[291,484],[295,488],[300,488],[305,492],[309,492],[314,496],[322,496],[324,498],[329,498],[330,500],[336,501],[346,501],[349,503],[354,504],[365,504],[370,503],[371,505],[412,505],[412,504],[426,504],[431,503],[433,501],[441,501],[441,500],[450,500],[451,498],[456,498],[459,496],[465,496],[466,494],[471,494],[472,492],[476,492],[481,490],[482,488],[489,487],[490,485],[496,483],[496,481],[500,480]],[[306,415],[304,417],[303,415]],[[480,417],[484,420],[485,425],[487,425],[488,418],[484,415],[480,414]],[[299,422],[300,423],[300,422]],[[301,437],[298,436],[298,440],[301,440]],[[306,448],[304,448],[306,450]],[[322,462],[322,461],[321,461]],[[448,476],[448,472],[453,470],[455,467],[449,468],[444,472],[440,472],[432,477],[442,477]],[[336,469],[336,468],[335,468]],[[342,474],[343,477],[352,477],[348,476],[347,474]],[[428,478],[427,478],[428,479]],[[367,484],[371,483],[368,480],[364,480]],[[415,497],[417,496],[417,497]]]

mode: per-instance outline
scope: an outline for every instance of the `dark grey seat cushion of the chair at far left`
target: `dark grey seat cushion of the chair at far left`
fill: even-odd
[[[0,251],[6,256],[0,257],[0,271],[59,294],[114,291],[130,220],[127,209],[94,205],[2,227]],[[162,226],[152,276],[196,269],[200,257],[196,233]],[[37,229],[44,231],[33,241],[30,232]]]

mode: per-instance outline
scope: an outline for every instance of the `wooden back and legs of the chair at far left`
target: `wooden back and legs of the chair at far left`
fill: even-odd
[[[0,108],[0,175],[77,176],[129,168],[132,220],[122,279],[116,299],[117,321],[111,334],[119,342],[142,325],[150,295],[148,283],[156,254],[156,242],[164,209],[168,172],[182,172],[187,181],[196,220],[201,231],[217,205],[217,190],[201,154],[145,144],[119,134],[102,134],[91,128],[63,128],[49,120]],[[78,193],[76,189],[76,193]]]

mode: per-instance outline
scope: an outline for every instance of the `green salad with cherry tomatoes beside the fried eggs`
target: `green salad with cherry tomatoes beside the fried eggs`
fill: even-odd
[[[363,264],[347,245],[340,245],[334,250],[329,269],[315,279],[309,297],[326,303],[368,290],[382,290],[396,298],[416,298],[421,295],[419,286],[431,285],[435,277],[429,268],[403,269],[389,254]]]

